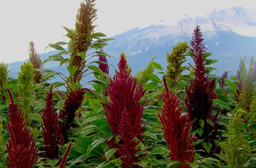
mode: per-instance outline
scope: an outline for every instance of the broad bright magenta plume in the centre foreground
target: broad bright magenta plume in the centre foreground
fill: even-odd
[[[145,101],[141,105],[139,103],[145,92],[142,85],[138,86],[137,81],[131,77],[131,69],[123,55],[121,55],[118,63],[118,71],[116,71],[116,75],[108,85],[108,93],[110,101],[108,101],[108,104],[102,104],[104,113],[112,133],[121,136],[118,144],[116,144],[114,137],[108,141],[108,146],[111,149],[119,149],[119,152],[114,154],[116,158],[121,157],[124,160],[129,158],[131,162],[137,162],[138,158],[142,156],[135,156],[137,142],[134,141],[134,137],[139,141],[143,139],[141,134],[144,127],[142,116]],[[129,129],[125,130],[127,129],[125,127],[129,127]],[[128,133],[125,131],[128,131]],[[121,151],[121,148],[127,146],[129,146],[129,150]],[[128,154],[132,154],[132,156],[127,157]]]

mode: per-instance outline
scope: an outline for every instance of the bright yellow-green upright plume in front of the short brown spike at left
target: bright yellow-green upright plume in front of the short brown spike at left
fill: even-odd
[[[21,111],[24,117],[24,123],[26,126],[30,125],[30,101],[32,98],[32,92],[34,88],[34,67],[31,62],[24,63],[20,66],[20,73],[18,73],[18,96],[20,98]]]

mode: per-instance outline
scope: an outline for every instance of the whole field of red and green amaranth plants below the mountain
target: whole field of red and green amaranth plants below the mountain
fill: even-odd
[[[103,48],[113,39],[94,31],[94,6],[82,2],[75,29],[64,27],[70,41],[49,44],[58,54],[42,61],[30,42],[17,79],[0,64],[1,168],[256,167],[253,57],[236,76],[212,75],[218,60],[197,26],[191,46],[167,52],[166,68],[153,57],[132,76],[129,55],[108,63]],[[49,61],[69,76],[44,69]],[[51,83],[56,76],[63,82]]]

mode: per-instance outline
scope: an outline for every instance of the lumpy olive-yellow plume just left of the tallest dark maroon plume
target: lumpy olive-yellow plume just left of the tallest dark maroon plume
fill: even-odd
[[[181,73],[184,70],[188,70],[186,66],[182,64],[186,61],[186,51],[189,49],[187,42],[178,43],[177,46],[173,46],[172,53],[167,52],[167,70],[166,78],[171,79],[169,87],[177,86],[177,80],[180,78]]]

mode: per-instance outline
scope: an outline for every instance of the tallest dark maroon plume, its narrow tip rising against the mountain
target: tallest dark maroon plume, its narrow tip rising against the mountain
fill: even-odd
[[[192,38],[192,54],[193,60],[195,62],[195,79],[191,80],[189,87],[186,87],[187,98],[185,98],[186,109],[189,115],[189,121],[193,122],[193,129],[201,128],[200,120],[203,120],[205,125],[203,127],[203,134],[196,135],[200,139],[208,139],[212,134],[212,126],[207,123],[207,119],[213,121],[212,116],[212,101],[216,98],[216,93],[213,90],[215,86],[216,78],[209,80],[206,76],[206,68],[203,56],[205,54],[205,47],[202,44],[204,40],[202,38],[202,33],[200,32],[200,27],[194,30],[194,37]],[[207,140],[208,141],[208,140]]]

